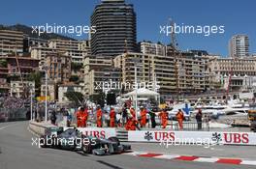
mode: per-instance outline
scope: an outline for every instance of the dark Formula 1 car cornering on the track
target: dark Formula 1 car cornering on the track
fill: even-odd
[[[77,128],[49,128],[40,138],[42,148],[56,148],[92,155],[112,155],[131,151],[130,145],[120,144],[117,137],[97,138],[83,135]]]

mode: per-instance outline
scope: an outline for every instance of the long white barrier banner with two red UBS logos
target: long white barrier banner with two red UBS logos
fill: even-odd
[[[128,141],[163,142],[181,144],[210,145],[256,145],[256,133],[253,132],[217,132],[217,131],[168,131],[140,130],[128,131]]]

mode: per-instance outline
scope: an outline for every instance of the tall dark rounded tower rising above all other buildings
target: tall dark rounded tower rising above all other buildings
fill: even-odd
[[[136,14],[133,5],[124,0],[102,0],[91,15],[93,55],[116,56],[136,51]]]

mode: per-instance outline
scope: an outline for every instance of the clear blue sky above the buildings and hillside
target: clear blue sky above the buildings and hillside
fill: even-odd
[[[170,17],[177,24],[224,25],[224,34],[205,37],[203,34],[176,35],[181,49],[205,49],[210,53],[228,54],[228,41],[235,34],[247,34],[250,52],[256,53],[256,1],[254,0],[126,0],[137,13],[138,42],[170,42],[160,34],[160,25]],[[100,0],[3,0],[0,24],[89,25],[90,15]],[[76,38],[76,37],[75,37]],[[78,39],[85,39],[82,37]]]

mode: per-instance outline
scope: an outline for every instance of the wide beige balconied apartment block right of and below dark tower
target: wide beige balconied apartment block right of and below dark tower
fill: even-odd
[[[192,53],[182,53],[176,67],[173,55],[124,53],[116,56],[113,62],[121,69],[122,83],[134,83],[136,63],[137,81],[157,83],[161,95],[203,92],[208,87],[206,62]]]

